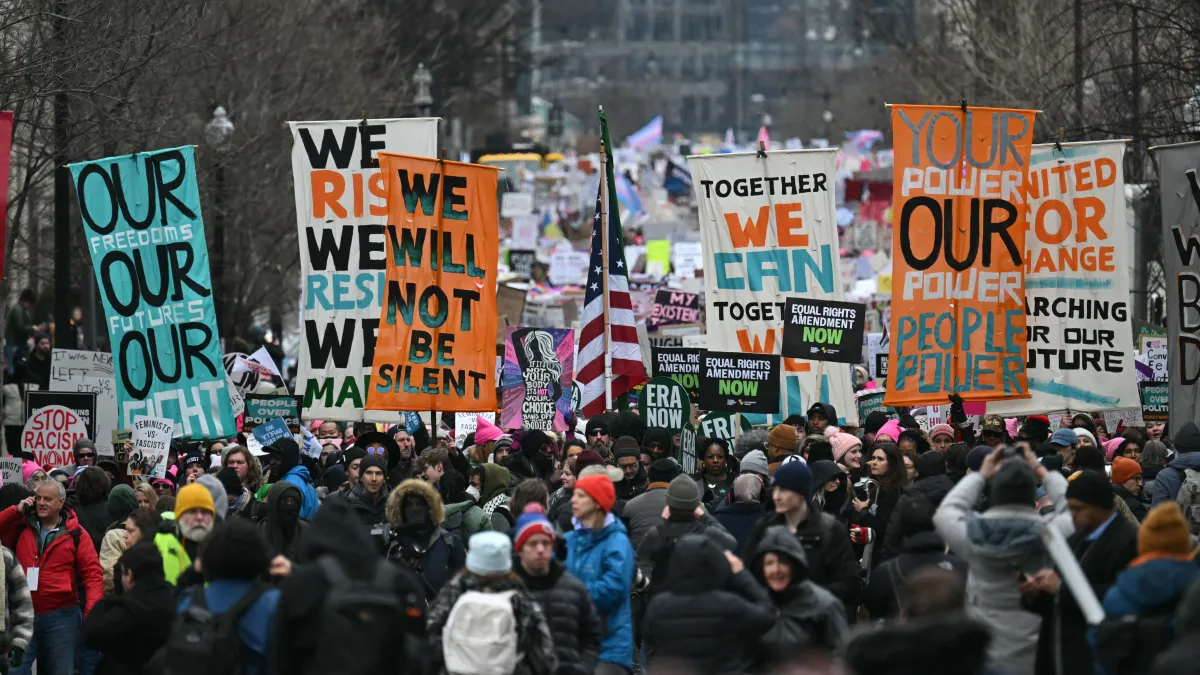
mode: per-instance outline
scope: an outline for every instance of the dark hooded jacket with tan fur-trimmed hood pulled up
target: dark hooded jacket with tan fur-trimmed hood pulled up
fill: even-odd
[[[419,497],[428,507],[425,522],[406,522],[403,504]],[[462,539],[442,528],[445,507],[433,485],[415,478],[404,480],[388,497],[388,524],[392,539],[388,560],[407,565],[426,584],[426,598],[432,598],[467,562]]]

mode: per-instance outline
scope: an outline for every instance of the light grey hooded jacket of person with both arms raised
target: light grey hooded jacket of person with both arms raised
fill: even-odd
[[[1042,620],[1022,607],[1016,573],[1033,577],[1052,567],[1042,545],[1045,527],[1060,527],[1064,536],[1072,533],[1069,518],[1055,518],[1067,509],[1067,479],[1056,472],[1043,479],[1046,497],[1054,502],[1049,516],[1039,515],[1032,504],[996,506],[974,513],[985,484],[979,473],[964,477],[942,500],[934,514],[934,526],[950,551],[970,567],[967,607],[991,631],[991,662],[1013,673],[1033,673]]]

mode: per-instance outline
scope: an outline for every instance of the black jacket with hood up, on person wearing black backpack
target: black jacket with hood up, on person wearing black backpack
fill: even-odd
[[[404,605],[404,619],[385,628],[384,634],[361,634],[362,625],[325,610],[330,593],[329,579],[314,561],[329,556],[352,580],[373,579],[380,565],[392,565],[376,552],[376,544],[367,528],[344,503],[326,503],[317,512],[300,545],[300,565],[280,583],[280,603],[276,615],[275,671],[280,675],[325,675],[344,668],[337,650],[323,649],[330,644],[386,645],[376,657],[368,673],[388,673],[396,663],[412,664],[413,673],[421,673],[418,659],[425,646],[425,589],[407,567],[396,566],[394,581],[396,598]],[[365,658],[365,655],[362,655]]]

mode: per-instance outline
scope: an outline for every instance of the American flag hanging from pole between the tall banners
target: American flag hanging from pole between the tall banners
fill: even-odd
[[[611,331],[608,351],[612,353],[613,400],[646,382],[646,366],[642,364],[642,348],[637,342],[634,301],[629,297],[629,276],[625,269],[625,246],[620,240],[618,217],[610,210],[608,226],[601,227],[600,193],[598,193],[595,217],[592,219],[592,261],[588,265],[588,286],[583,297],[580,370],[575,377],[583,389],[583,405],[580,408],[583,417],[593,417],[605,410],[601,235],[608,237],[608,322]]]

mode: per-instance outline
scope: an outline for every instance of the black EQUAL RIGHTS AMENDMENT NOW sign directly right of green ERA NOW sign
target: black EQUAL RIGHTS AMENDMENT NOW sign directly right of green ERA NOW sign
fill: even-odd
[[[704,352],[700,362],[701,408],[779,414],[779,356]]]

